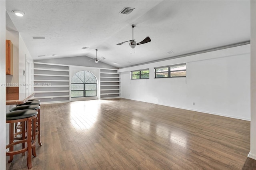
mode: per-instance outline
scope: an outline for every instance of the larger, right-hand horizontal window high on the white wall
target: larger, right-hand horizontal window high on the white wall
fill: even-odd
[[[155,78],[186,77],[186,63],[155,68]]]

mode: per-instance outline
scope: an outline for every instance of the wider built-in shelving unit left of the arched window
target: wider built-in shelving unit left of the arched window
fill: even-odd
[[[69,102],[69,67],[34,62],[34,99],[41,103]]]

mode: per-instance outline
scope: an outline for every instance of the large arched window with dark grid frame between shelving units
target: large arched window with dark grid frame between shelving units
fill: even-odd
[[[71,79],[71,98],[97,96],[97,79],[89,71],[79,71]]]

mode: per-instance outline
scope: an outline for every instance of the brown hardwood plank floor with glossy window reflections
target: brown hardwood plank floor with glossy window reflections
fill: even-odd
[[[241,170],[250,122],[127,99],[77,101],[42,105],[41,141],[32,169]],[[26,156],[6,169],[27,169]]]

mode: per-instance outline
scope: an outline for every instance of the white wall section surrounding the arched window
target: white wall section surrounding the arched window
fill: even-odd
[[[77,73],[78,71],[90,71],[92,74],[95,75],[96,79],[97,79],[97,84],[98,84],[98,91],[97,91],[97,98],[96,99],[99,99],[99,95],[100,95],[100,69],[99,68],[94,68],[94,67],[81,67],[81,66],[70,66],[69,67],[69,77],[70,77],[70,85],[71,85],[71,79],[72,77],[74,76],[75,73]],[[71,92],[70,92],[71,93]],[[71,94],[70,94],[71,96]],[[90,100],[90,99],[95,99],[95,97],[86,97],[86,98],[83,98],[83,97],[79,97],[79,98],[76,98],[72,101],[78,101],[78,100]],[[71,97],[70,97],[70,100],[71,100]]]

